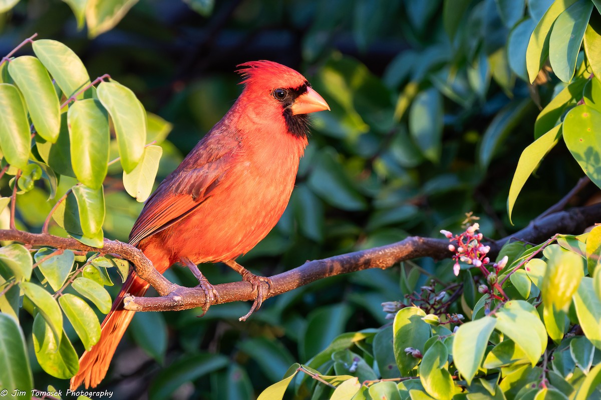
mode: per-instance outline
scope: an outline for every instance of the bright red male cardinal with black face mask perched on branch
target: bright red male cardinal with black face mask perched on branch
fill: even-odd
[[[307,146],[307,114],[329,106],[291,68],[272,61],[239,67],[245,67],[239,71],[245,84],[242,94],[148,198],[130,243],[161,273],[177,262],[191,267],[210,300],[212,287],[196,264],[224,262],[257,290],[251,314],[263,300],[260,281],[269,279],[253,275],[234,260],[278,222]],[[99,342],[79,360],[71,389],[82,383],[96,387],[105,377],[135,312],[123,308],[123,297],[143,296],[148,286],[130,273],[102,323]]]

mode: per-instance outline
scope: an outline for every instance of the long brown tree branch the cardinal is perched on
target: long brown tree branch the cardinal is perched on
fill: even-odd
[[[578,234],[601,219],[601,204],[575,207],[537,218],[528,227],[504,239],[488,243],[490,257],[495,257],[502,245],[509,240],[542,242],[555,233]],[[159,297],[134,297],[124,299],[124,307],[135,311],[175,311],[197,308],[205,303],[204,291],[200,287],[188,288],[173,284],[161,275],[138,249],[118,240],[106,240],[103,248],[84,245],[78,240],[53,236],[47,233],[29,233],[14,229],[0,230],[0,240],[16,240],[34,246],[52,246],[57,249],[95,251],[101,254],[118,254],[133,263],[138,276],[149,282],[160,294]],[[390,245],[336,255],[323,260],[307,261],[302,266],[271,276],[271,287],[265,285],[267,298],[277,296],[318,279],[369,268],[386,269],[400,261],[418,257],[442,259],[450,257],[447,239],[412,236]],[[268,290],[269,289],[269,290]],[[252,285],[246,281],[215,285],[219,303],[254,299]]]

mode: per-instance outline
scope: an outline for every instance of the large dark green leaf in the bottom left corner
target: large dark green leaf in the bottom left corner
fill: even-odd
[[[11,398],[18,400],[31,399],[33,377],[29,357],[25,345],[25,336],[17,320],[10,315],[0,313],[0,388],[13,393],[21,390],[24,395]]]

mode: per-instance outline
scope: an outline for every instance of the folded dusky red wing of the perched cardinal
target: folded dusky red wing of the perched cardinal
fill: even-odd
[[[133,224],[130,244],[138,245],[145,237],[175,224],[219,191],[236,153],[237,142],[228,142],[223,137],[201,141],[160,183]]]

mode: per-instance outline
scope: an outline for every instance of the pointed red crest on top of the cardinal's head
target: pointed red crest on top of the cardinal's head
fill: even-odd
[[[273,61],[249,61],[236,67],[242,67],[236,72],[242,75],[243,80],[240,83],[245,85],[256,82],[273,89],[295,88],[307,83],[307,79],[297,71]]]

